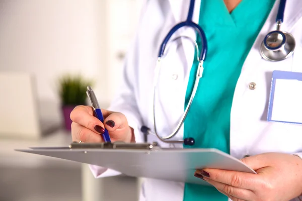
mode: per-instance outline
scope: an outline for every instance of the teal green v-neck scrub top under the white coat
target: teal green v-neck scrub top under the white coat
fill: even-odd
[[[243,63],[275,0],[242,0],[230,14],[223,0],[202,0],[199,25],[205,32],[208,51],[203,77],[188,116],[184,138],[194,137],[194,146],[230,153],[230,116],[235,86]],[[198,47],[201,40],[197,38]],[[196,56],[195,56],[196,58]],[[198,61],[195,59],[187,86],[188,104]],[[185,184],[184,201],[228,200],[216,188]]]

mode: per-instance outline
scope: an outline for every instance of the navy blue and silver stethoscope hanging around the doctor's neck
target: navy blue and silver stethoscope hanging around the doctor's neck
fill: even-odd
[[[286,0],[280,0],[278,14],[277,14],[277,18],[276,18],[277,30],[269,32],[265,36],[265,38],[264,38],[264,40],[261,44],[260,54],[265,60],[268,60],[268,61],[281,61],[283,59],[288,58],[293,53],[293,50],[294,50],[294,47],[295,47],[295,41],[294,41],[293,36],[290,33],[287,33],[285,31],[280,31],[280,26],[281,26],[281,23],[283,22],[285,3],[286,3]],[[183,143],[184,145],[190,145],[190,146],[195,144],[195,139],[191,138],[191,137],[190,138],[185,138],[183,140],[169,140],[177,134],[177,132],[180,130],[181,126],[183,125],[183,123],[185,121],[185,118],[188,114],[188,111],[189,111],[190,106],[192,104],[195,93],[197,91],[199,79],[202,77],[203,62],[205,60],[206,52],[207,52],[207,41],[206,41],[205,34],[204,34],[202,28],[199,25],[192,22],[194,4],[195,4],[195,0],[191,0],[187,20],[175,25],[170,30],[170,32],[167,34],[167,36],[165,37],[163,43],[160,46],[157,65],[156,65],[156,69],[155,69],[154,90],[153,90],[154,133],[148,127],[142,126],[140,130],[144,134],[144,141],[145,142],[147,141],[147,135],[148,134],[153,134],[153,135],[155,134],[162,142],[165,142],[165,143]],[[160,69],[161,69],[161,60],[162,60],[162,57],[165,53],[165,48],[166,48],[166,46],[168,44],[168,41],[170,40],[171,36],[178,29],[183,28],[183,27],[191,27],[191,28],[195,29],[195,31],[198,33],[198,35],[201,39],[201,43],[202,43],[202,48],[201,48],[200,54],[199,54],[199,49],[198,49],[198,45],[197,45],[196,41],[191,39],[190,37],[180,36],[180,37],[177,37],[173,40],[177,40],[181,37],[186,37],[187,39],[192,40],[192,42],[194,43],[195,48],[197,50],[197,55],[199,55],[197,57],[197,59],[199,61],[199,64],[198,64],[198,68],[197,68],[197,71],[196,71],[196,79],[195,79],[195,82],[194,82],[193,90],[192,90],[188,105],[187,105],[187,107],[186,107],[179,123],[177,124],[175,130],[170,135],[168,135],[166,137],[161,137],[158,134],[156,120],[155,120],[155,111],[156,111],[155,110],[155,91],[156,91],[157,82],[158,82]]]

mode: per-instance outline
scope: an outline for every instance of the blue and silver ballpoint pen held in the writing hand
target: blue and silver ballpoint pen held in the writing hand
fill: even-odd
[[[90,103],[91,103],[91,106],[93,108],[93,111],[94,111],[94,114],[95,116],[102,122],[104,123],[104,117],[103,117],[103,114],[102,114],[102,111],[100,109],[100,106],[99,106],[99,103],[98,103],[98,100],[97,100],[97,97],[94,93],[94,91],[92,90],[92,88],[90,86],[87,86],[87,91],[86,91],[88,97],[89,97],[89,100],[90,100]],[[104,128],[105,132],[102,134],[102,137],[103,137],[103,140],[104,142],[111,142],[110,140],[110,137],[109,137],[109,133],[107,131],[106,128]]]

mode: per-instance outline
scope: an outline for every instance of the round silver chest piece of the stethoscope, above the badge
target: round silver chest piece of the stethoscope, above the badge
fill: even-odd
[[[284,31],[272,31],[266,35],[261,47],[261,56],[268,61],[281,61],[288,58],[294,51],[293,36]]]

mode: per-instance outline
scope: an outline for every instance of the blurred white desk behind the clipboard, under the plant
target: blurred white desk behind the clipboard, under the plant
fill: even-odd
[[[87,164],[14,151],[16,148],[28,148],[35,146],[67,146],[70,142],[70,133],[64,130],[59,130],[51,135],[41,138],[40,140],[2,138],[0,139],[0,165],[7,167],[29,168],[79,168],[82,172],[82,200],[138,200],[138,186],[140,185],[140,179],[126,176],[95,179]]]

